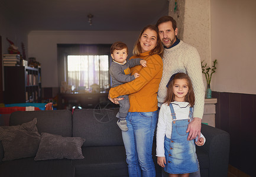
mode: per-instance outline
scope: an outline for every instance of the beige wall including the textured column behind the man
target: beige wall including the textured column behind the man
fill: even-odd
[[[196,47],[208,65],[218,60],[212,90],[256,94],[256,1],[177,1],[183,27],[174,2],[170,0],[169,15],[183,28],[183,41]]]

